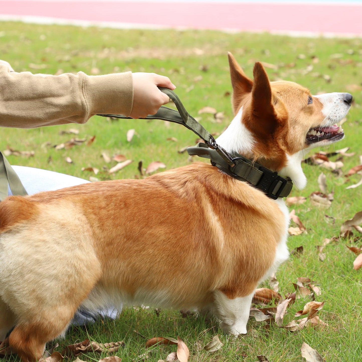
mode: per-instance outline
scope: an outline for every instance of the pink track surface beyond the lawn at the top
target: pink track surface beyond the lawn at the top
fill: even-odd
[[[358,4],[0,0],[0,15],[169,28],[362,34],[362,6]]]

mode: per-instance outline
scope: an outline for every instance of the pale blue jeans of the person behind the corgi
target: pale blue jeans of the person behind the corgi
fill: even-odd
[[[90,182],[83,180],[83,178],[69,176],[64,173],[42,170],[39,168],[24,166],[12,167],[19,176],[21,183],[24,185],[24,188],[29,195],[40,191],[58,190]],[[8,195],[12,195],[10,188],[8,189]],[[119,307],[118,310],[115,310],[114,307],[109,307],[98,311],[89,311],[80,308],[76,311],[71,324],[85,325],[88,323],[94,323],[96,320],[104,319],[105,317],[115,319],[121,310],[122,306]]]

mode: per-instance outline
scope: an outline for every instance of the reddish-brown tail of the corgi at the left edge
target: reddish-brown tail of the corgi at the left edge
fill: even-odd
[[[38,213],[37,203],[23,196],[10,196],[0,202],[0,232]]]

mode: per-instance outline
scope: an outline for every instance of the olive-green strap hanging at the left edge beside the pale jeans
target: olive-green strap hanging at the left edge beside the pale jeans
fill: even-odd
[[[13,195],[28,195],[9,161],[0,152],[0,201],[8,197],[8,185]]]

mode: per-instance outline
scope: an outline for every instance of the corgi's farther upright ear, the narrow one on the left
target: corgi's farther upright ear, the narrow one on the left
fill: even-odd
[[[232,85],[232,110],[236,114],[240,108],[240,103],[245,94],[250,93],[253,88],[253,81],[249,79],[239,64],[236,62],[233,55],[228,52],[230,77]]]

